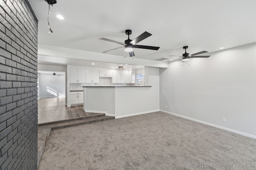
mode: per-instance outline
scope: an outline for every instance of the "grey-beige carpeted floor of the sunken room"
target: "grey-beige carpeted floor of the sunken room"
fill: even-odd
[[[154,112],[54,130],[38,169],[254,170],[256,140]]]

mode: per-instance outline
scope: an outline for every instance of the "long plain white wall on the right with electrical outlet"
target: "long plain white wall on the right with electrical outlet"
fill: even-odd
[[[210,55],[160,68],[160,109],[256,138],[256,43]]]

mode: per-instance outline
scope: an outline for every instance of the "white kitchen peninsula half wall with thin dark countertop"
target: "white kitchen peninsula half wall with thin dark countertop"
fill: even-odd
[[[86,112],[121,118],[159,111],[155,110],[152,86],[83,86],[83,89]]]

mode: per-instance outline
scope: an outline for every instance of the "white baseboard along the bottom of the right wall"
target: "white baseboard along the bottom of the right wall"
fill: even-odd
[[[212,124],[212,123],[207,123],[207,122],[204,122],[204,121],[200,121],[200,120],[193,119],[193,118],[190,118],[190,117],[178,115],[178,114],[171,113],[171,112],[168,112],[168,111],[164,111],[164,110],[160,110],[160,111],[162,111],[162,112],[164,112],[164,113],[168,113],[168,114],[174,115],[174,116],[182,117],[182,118],[184,118],[184,119],[196,121],[196,122],[198,122],[198,123],[202,123],[202,124],[205,124],[205,125],[209,125],[209,126],[212,126],[212,127],[216,127],[216,128],[219,128],[219,129],[223,129],[223,130],[226,130],[226,131],[230,131],[230,132],[233,132],[233,133],[237,133],[237,134],[239,134],[239,135],[243,135],[243,136],[246,136],[246,137],[250,137],[250,138],[256,139],[256,136],[250,135],[250,134],[248,134],[248,133],[243,133],[243,132],[240,132],[240,131],[236,131],[236,130],[233,130],[233,129],[229,129],[229,128],[222,127],[222,126],[219,126],[219,125],[214,125],[214,124]]]

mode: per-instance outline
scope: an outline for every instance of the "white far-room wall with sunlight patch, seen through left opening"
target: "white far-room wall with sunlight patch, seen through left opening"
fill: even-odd
[[[40,94],[40,96],[38,96],[39,98],[65,96],[65,76],[52,76],[44,73],[39,73],[38,78]],[[48,90],[50,90],[50,92]],[[55,91],[56,95],[52,94],[52,91]]]

